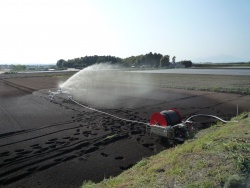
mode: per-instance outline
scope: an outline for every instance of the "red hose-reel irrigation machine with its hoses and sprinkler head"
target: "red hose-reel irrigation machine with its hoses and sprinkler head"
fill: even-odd
[[[118,117],[116,115],[83,105],[79,103],[78,101],[74,100],[73,96],[70,95],[69,92],[63,91],[62,88],[59,88],[56,92],[52,92],[49,90],[49,99],[50,101],[54,101],[55,96],[62,95],[62,94],[66,95],[68,97],[68,100],[74,102],[75,104],[83,108],[86,108],[86,109],[89,109],[89,110],[92,110],[92,111],[95,111],[104,115],[108,115],[110,117],[119,119],[121,121],[143,124],[146,126],[146,131],[149,131],[150,134],[155,134],[155,135],[165,137],[170,140],[177,140],[181,142],[183,142],[186,138],[188,138],[189,133],[194,129],[195,122],[191,121],[191,119],[194,117],[215,118],[223,123],[238,122],[238,121],[226,121],[217,116],[209,115],[209,114],[192,115],[189,118],[187,118],[186,121],[183,121],[181,114],[177,109],[169,109],[169,110],[164,110],[161,112],[153,113],[150,117],[150,123],[146,123],[146,122],[135,121],[135,120]]]

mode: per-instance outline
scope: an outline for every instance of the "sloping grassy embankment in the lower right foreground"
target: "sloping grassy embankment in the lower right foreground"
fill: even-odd
[[[248,115],[248,116],[247,116]],[[117,177],[83,188],[245,187],[250,183],[250,113],[199,131],[184,144],[145,158]]]

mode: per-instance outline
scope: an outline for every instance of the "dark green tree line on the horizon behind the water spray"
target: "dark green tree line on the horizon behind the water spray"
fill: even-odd
[[[174,56],[175,58],[175,56]],[[59,69],[63,68],[86,68],[88,66],[98,63],[119,64],[123,67],[137,67],[137,68],[167,68],[174,67],[175,62],[170,62],[169,55],[162,55],[160,53],[147,53],[145,55],[131,56],[127,58],[119,58],[115,56],[85,56],[69,60],[60,59],[56,65]],[[192,61],[184,60],[178,62],[185,67],[191,67]]]

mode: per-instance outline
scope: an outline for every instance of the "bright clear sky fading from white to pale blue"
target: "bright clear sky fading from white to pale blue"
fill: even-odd
[[[1,0],[0,64],[149,52],[250,61],[249,10],[250,0]]]

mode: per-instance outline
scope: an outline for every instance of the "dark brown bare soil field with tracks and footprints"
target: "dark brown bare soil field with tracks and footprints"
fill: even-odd
[[[79,187],[84,180],[116,176],[170,147],[144,124],[85,109],[63,95],[51,102],[48,89],[63,81],[38,73],[0,75],[0,187]],[[228,120],[237,105],[239,113],[250,110],[249,96],[159,87],[142,98],[124,94],[119,99],[116,108],[95,107],[145,123],[152,113],[170,108],[183,119],[206,113]]]

